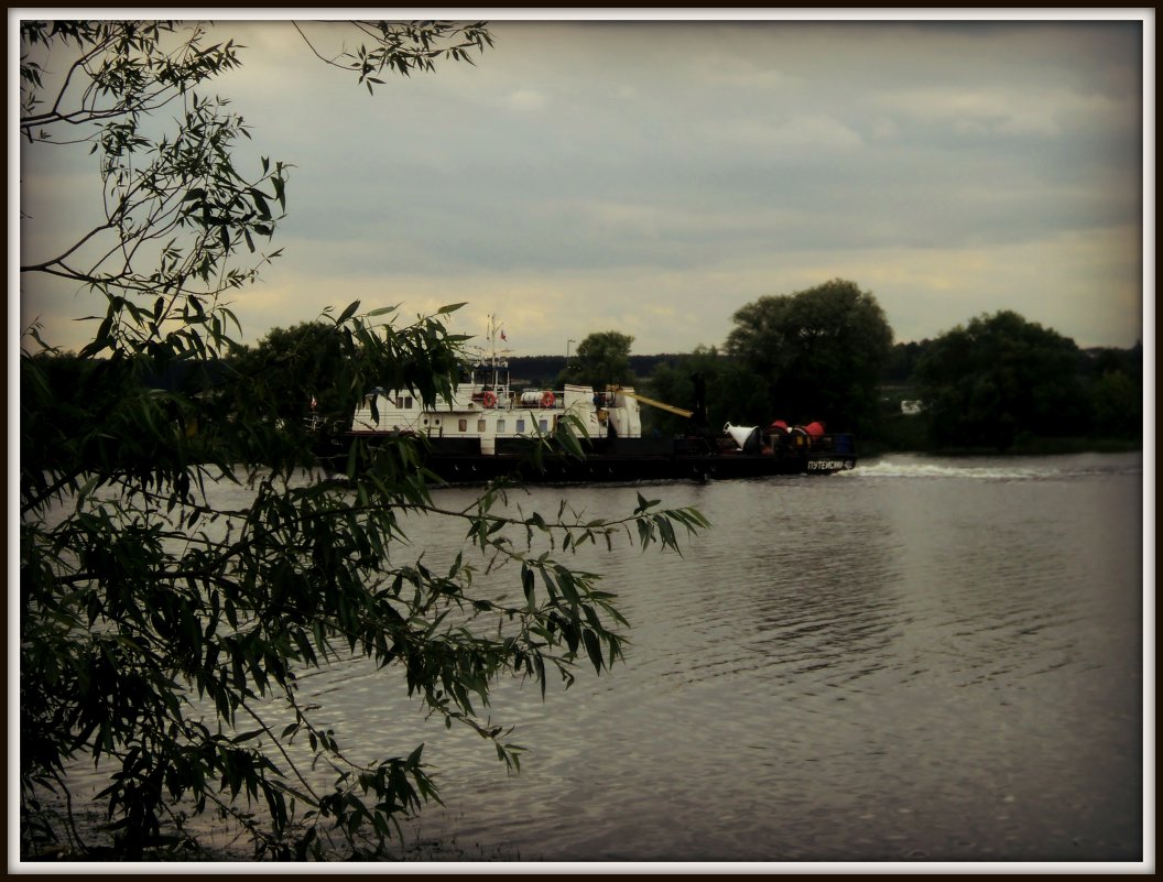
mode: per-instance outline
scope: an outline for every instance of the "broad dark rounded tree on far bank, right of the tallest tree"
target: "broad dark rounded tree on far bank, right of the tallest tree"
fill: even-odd
[[[1072,339],[1003,310],[934,339],[914,378],[935,443],[1005,450],[1020,432],[1085,432],[1078,366]]]

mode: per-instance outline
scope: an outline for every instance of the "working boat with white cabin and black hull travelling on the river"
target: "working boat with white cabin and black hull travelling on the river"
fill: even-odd
[[[452,395],[436,407],[426,408],[408,390],[376,387],[364,395],[349,426],[326,431],[313,421],[320,460],[338,471],[345,468],[355,442],[376,444],[407,435],[422,440],[423,466],[448,483],[706,481],[829,474],[856,465],[852,436],[829,435],[822,423],[727,423],[715,435],[707,426],[699,378],[693,410],[622,386],[514,390],[492,327],[490,338],[492,352],[478,354]],[[691,432],[643,437],[642,404],[690,418]]]

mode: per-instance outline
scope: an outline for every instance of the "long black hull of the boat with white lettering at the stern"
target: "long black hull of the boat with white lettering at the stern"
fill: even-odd
[[[383,436],[343,433],[326,439],[320,459],[343,471],[356,438],[374,444]],[[485,483],[508,479],[520,483],[626,483],[634,481],[726,481],[768,475],[830,474],[856,466],[849,436],[829,436],[808,446],[779,446],[762,452],[721,451],[707,442],[654,438],[611,439],[591,447],[584,459],[557,453],[530,457],[528,444],[500,444],[494,454],[479,446],[436,440],[424,466],[448,483]]]

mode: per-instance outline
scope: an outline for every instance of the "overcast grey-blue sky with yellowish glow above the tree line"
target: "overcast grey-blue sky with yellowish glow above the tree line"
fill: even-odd
[[[1153,10],[536,12],[490,16],[495,45],[475,66],[388,77],[374,96],[288,22],[220,22],[216,38],[247,46],[217,92],[252,127],[249,167],[295,166],[284,257],[234,299],[248,340],[357,299],[406,317],[468,301],[457,330],[483,334],[493,313],[515,354],[564,356],[606,330],[637,354],[685,352],[721,346],[740,307],[834,278],[871,292],[898,342],[1000,309],[1082,346],[1143,337]],[[308,29],[331,46],[341,33]],[[22,156],[22,205],[41,221],[79,211],[94,177]],[[1153,200],[1147,216],[1154,297]],[[37,235],[22,229],[24,259]],[[69,321],[92,295],[19,284],[21,328],[40,317],[70,346],[92,335]]]

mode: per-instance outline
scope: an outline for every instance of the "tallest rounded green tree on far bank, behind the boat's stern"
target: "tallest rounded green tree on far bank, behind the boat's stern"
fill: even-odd
[[[771,418],[825,420],[836,431],[875,423],[892,328],[876,297],[834,279],[739,309],[725,350],[764,378]]]

